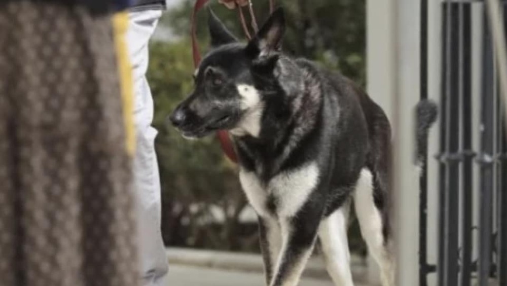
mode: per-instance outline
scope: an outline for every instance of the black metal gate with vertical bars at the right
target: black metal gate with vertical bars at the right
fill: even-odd
[[[421,1],[421,97],[427,97],[427,1]],[[432,1],[432,0],[429,0]],[[421,285],[507,285],[507,143],[485,4],[446,0],[442,11],[439,220],[427,220],[427,181],[420,180],[419,265]],[[473,33],[473,13],[483,14]],[[507,14],[507,1],[503,1]],[[507,29],[507,20],[504,17]],[[480,41],[479,57],[474,45]],[[480,76],[477,100],[472,75]],[[479,124],[474,127],[476,115]],[[473,144],[473,137],[479,138]],[[433,160],[429,154],[429,160]],[[425,173],[425,172],[424,172]],[[427,226],[438,223],[438,259],[427,261]]]

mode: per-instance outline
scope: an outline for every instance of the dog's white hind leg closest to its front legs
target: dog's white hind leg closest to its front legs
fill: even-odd
[[[350,253],[347,241],[349,202],[322,220],[318,236],[326,268],[337,286],[352,286]]]

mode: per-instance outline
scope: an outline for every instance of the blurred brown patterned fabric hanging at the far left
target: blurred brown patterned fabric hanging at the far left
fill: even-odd
[[[0,285],[137,285],[111,17],[0,4]]]

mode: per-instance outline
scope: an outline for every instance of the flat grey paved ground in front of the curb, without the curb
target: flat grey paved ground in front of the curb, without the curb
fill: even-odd
[[[227,271],[195,266],[171,265],[170,286],[263,286],[263,274],[258,272]],[[303,278],[299,286],[333,286],[331,280]],[[355,284],[355,286],[365,286]]]

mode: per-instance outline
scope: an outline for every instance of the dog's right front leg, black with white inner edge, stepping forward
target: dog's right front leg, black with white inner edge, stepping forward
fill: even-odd
[[[296,286],[315,245],[317,222],[281,219],[282,246],[270,286]]]

